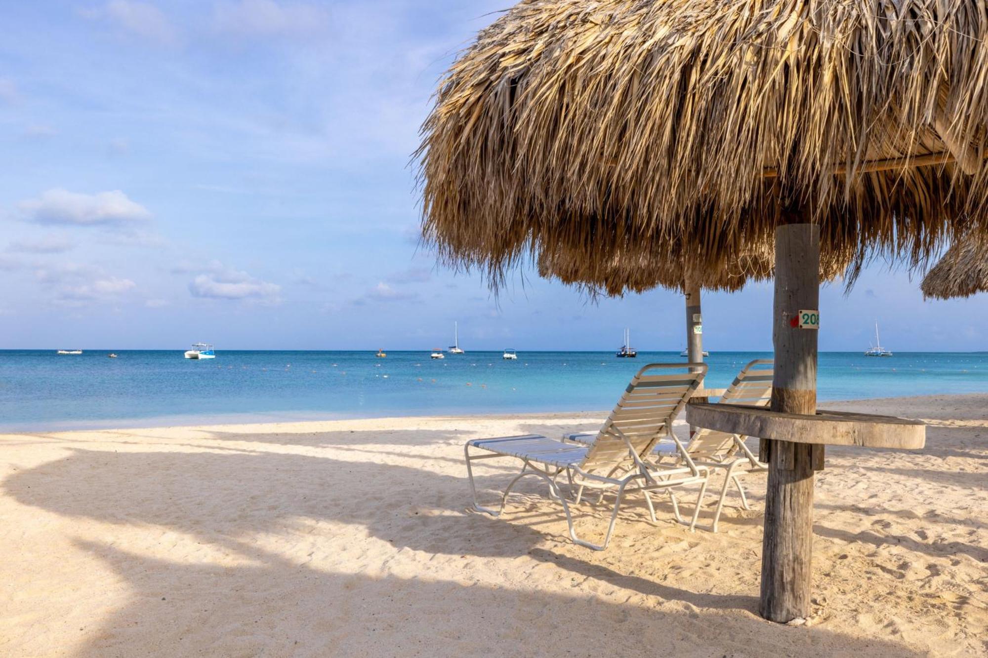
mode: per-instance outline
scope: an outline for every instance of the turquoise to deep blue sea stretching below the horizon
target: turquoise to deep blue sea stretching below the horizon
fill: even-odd
[[[0,430],[115,428],[398,415],[596,411],[614,406],[630,376],[678,353],[0,351]],[[723,387],[752,359],[719,352],[706,384]],[[988,391],[988,353],[822,353],[819,399]]]

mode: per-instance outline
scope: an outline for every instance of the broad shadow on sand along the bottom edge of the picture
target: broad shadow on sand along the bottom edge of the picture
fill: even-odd
[[[899,644],[811,632],[753,615],[704,619],[692,605],[616,604],[548,593],[393,574],[328,573],[255,550],[254,564],[177,564],[99,542],[77,546],[132,588],[129,605],[76,650],[107,655],[628,656],[791,653],[919,656]],[[599,575],[593,576],[595,578]],[[649,593],[647,597],[660,597]],[[716,620],[716,623],[710,623]]]

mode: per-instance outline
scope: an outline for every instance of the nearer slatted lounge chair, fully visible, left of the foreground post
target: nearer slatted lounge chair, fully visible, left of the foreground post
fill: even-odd
[[[691,372],[691,368],[696,371]],[[466,474],[470,481],[474,509],[494,517],[500,516],[515,483],[526,475],[535,475],[549,485],[550,498],[562,504],[569,535],[581,546],[594,550],[607,548],[617,521],[621,496],[629,485],[628,491],[641,491],[644,494],[654,523],[655,508],[649,496],[650,491],[669,491],[682,484],[705,481],[709,476],[707,468],[694,463],[693,457],[672,433],[673,419],[700,387],[705,374],[706,366],[703,364],[651,364],[638,370],[617,401],[614,411],[589,445],[564,443],[540,435],[474,439],[466,442],[463,452],[466,456]],[[678,448],[681,458],[676,463],[659,464],[642,459],[661,439],[667,438]],[[471,454],[471,449],[483,452]],[[522,471],[508,483],[498,509],[483,507],[477,502],[471,464],[477,459],[505,456],[521,459]],[[616,477],[618,472],[620,476]],[[569,482],[567,493],[573,496],[573,503],[579,504],[584,488],[616,494],[604,543],[592,543],[576,535],[570,501],[556,482],[561,473],[566,474]],[[682,521],[676,498],[671,491],[669,493],[676,517]],[[603,499],[603,493],[601,498]]]

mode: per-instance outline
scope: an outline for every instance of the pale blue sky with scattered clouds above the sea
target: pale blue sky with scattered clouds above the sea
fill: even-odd
[[[0,349],[681,349],[682,297],[498,298],[417,250],[408,163],[439,75],[504,0],[0,1]],[[874,266],[824,350],[988,349],[984,298]],[[770,349],[772,287],[704,297]]]

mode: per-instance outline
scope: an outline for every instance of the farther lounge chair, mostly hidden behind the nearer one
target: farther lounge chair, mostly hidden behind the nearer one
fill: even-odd
[[[720,396],[720,402],[745,404],[753,407],[768,406],[772,398],[772,365],[771,359],[756,359],[749,363],[738,372],[737,377]],[[566,441],[577,444],[587,444],[592,438],[593,435],[587,433],[569,434],[564,437]],[[745,496],[739,478],[749,473],[768,472],[769,470],[768,464],[759,461],[758,457],[745,445],[745,439],[747,437],[700,428],[686,447],[686,452],[693,457],[697,465],[705,466],[711,470],[723,469],[725,471],[723,486],[720,488],[720,498],[717,500],[717,507],[713,513],[713,524],[710,527],[714,533],[717,532],[717,522],[720,520],[720,513],[723,510],[730,484],[733,482],[737,487],[738,493],[741,495],[741,506],[745,510],[750,510],[748,498]],[[659,463],[663,461],[676,463],[680,461],[680,454],[674,444],[663,442],[655,447],[650,458],[657,458]],[[698,498],[697,509],[693,514],[693,521],[690,523],[690,530],[695,530],[697,527],[706,486],[706,481],[700,486],[700,497]]]

